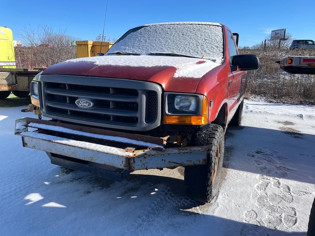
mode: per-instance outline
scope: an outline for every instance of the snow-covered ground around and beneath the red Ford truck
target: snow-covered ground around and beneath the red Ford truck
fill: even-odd
[[[24,102],[25,104],[26,102]],[[315,107],[246,100],[226,132],[219,194],[185,196],[183,168],[116,183],[50,164],[14,136],[0,104],[1,235],[306,235],[315,194]]]

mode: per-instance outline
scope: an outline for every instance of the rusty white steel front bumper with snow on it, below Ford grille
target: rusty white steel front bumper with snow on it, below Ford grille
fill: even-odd
[[[34,128],[37,129],[29,131],[29,127],[33,130]],[[103,135],[103,133],[106,135]],[[69,157],[72,161],[82,160],[85,161],[85,164],[90,163],[89,166],[100,164],[126,171],[134,171],[203,165],[207,162],[207,146],[166,148],[161,150],[159,144],[163,145],[164,140],[160,138],[77,126],[56,121],[22,118],[16,120],[15,134],[22,136],[24,147]],[[111,135],[109,136],[108,134]],[[121,138],[122,136],[130,138],[119,139],[118,141],[112,141],[111,139],[111,137]],[[100,142],[95,142],[95,140]],[[129,143],[122,143],[122,141]],[[144,141],[149,142],[150,145],[146,147],[146,142]],[[117,142],[120,146],[125,145],[126,148],[108,145],[107,142]],[[140,145],[137,145],[138,143]],[[82,163],[82,161],[79,162]]]

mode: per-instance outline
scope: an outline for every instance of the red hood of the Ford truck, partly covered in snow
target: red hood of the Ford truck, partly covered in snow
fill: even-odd
[[[97,56],[53,65],[43,74],[100,76],[159,83],[165,91],[194,93],[198,82],[221,65],[208,59],[170,56]]]

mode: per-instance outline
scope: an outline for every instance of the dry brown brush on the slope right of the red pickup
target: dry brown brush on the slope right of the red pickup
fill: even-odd
[[[315,104],[315,75],[289,74],[275,62],[286,56],[315,56],[315,50],[241,49],[240,54],[256,54],[259,70],[248,72],[247,96],[263,95],[279,102]]]

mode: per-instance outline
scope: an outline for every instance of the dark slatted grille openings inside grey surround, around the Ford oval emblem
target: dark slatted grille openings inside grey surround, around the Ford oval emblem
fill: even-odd
[[[150,120],[157,117],[157,95],[150,94]],[[63,117],[101,123],[137,124],[139,120],[139,92],[137,89],[100,87],[67,83],[45,82],[46,112]],[[78,98],[92,100],[93,108],[78,107]],[[155,104],[153,104],[155,103]]]

